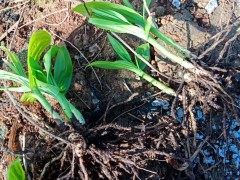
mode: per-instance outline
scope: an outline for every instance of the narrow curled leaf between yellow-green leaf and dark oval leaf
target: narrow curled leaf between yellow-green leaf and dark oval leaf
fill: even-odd
[[[47,74],[47,83],[56,85],[53,75],[52,75],[52,59],[56,57],[59,47],[51,46],[51,48],[47,51],[47,53],[43,57],[43,63],[45,66],[46,74]]]

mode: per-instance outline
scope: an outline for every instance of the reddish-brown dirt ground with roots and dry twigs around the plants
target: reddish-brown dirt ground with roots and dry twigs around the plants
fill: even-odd
[[[140,7],[138,0],[131,2]],[[147,72],[186,97],[179,100],[129,71],[85,68],[117,56],[106,31],[71,11],[80,2],[0,0],[0,43],[23,62],[29,37],[38,29],[49,31],[53,44],[67,46],[74,64],[67,99],[86,119],[85,126],[63,131],[39,103],[19,105],[20,112],[0,91],[0,177],[6,179],[8,165],[24,154],[28,179],[239,179],[240,3],[219,0],[208,14],[206,2],[182,0],[176,8],[159,0],[150,6],[159,29],[196,54],[194,63],[226,92],[212,93],[198,79],[182,83],[185,71],[152,48],[151,64],[168,78]],[[133,48],[142,43],[121,37]],[[0,65],[6,68],[1,59]],[[21,94],[13,96],[19,102]]]

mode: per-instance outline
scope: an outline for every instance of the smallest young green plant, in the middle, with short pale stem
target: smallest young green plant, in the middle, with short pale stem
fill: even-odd
[[[108,39],[113,47],[113,49],[116,51],[118,56],[121,60],[117,60],[114,62],[109,61],[95,61],[88,66],[94,66],[104,69],[127,69],[129,71],[132,71],[136,73],[139,77],[145,79],[146,81],[150,82],[152,85],[156,86],[160,90],[162,90],[164,93],[167,93],[172,96],[176,96],[176,93],[173,89],[169,88],[168,86],[164,85],[163,83],[155,80],[151,76],[149,76],[147,73],[145,73],[143,70],[146,67],[146,64],[141,61],[137,56],[135,56],[135,64],[131,59],[131,56],[127,52],[127,50],[123,47],[123,45],[118,42],[115,38],[113,38],[111,35],[108,34]],[[150,46],[148,43],[140,45],[136,52],[140,54],[142,57],[144,57],[146,60],[150,60]]]

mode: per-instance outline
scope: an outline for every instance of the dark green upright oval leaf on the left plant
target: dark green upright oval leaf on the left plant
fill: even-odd
[[[54,80],[58,87],[66,94],[72,81],[73,66],[70,54],[66,47],[59,48],[55,66],[54,66]]]

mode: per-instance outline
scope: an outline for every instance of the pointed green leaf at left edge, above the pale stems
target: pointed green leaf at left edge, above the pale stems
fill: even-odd
[[[16,74],[23,76],[23,77],[27,77],[19,58],[4,46],[0,46],[0,49],[2,49],[3,51],[5,51],[8,54],[8,56],[12,62],[12,64],[10,64],[9,62],[4,61],[9,66],[9,68],[11,68],[12,71],[15,72]]]

